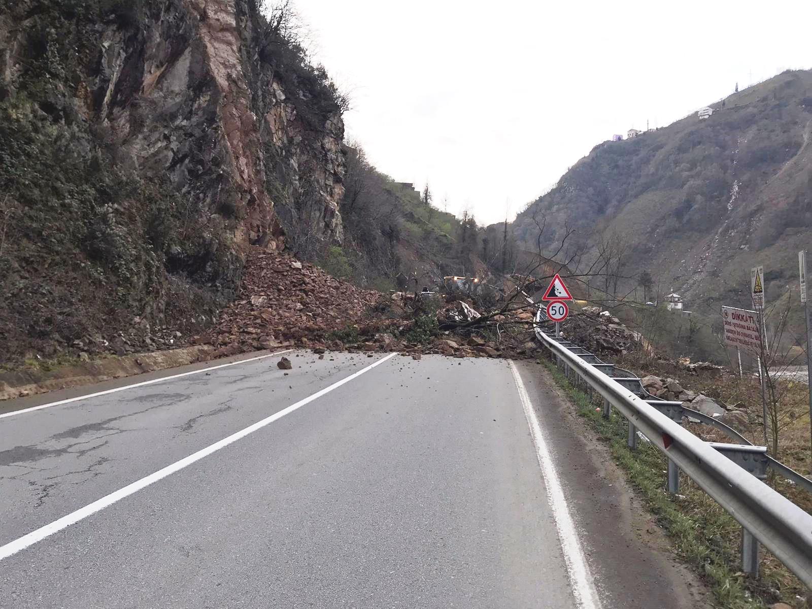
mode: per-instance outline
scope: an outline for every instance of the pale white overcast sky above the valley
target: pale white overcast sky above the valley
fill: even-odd
[[[480,223],[511,216],[614,133],[663,127],[812,67],[812,2],[298,0],[352,97],[348,138]]]

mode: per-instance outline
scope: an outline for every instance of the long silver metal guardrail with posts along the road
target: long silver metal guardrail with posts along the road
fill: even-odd
[[[542,311],[538,309],[535,326],[538,340],[555,356],[568,378],[576,383],[580,379],[590,393],[603,396],[604,416],[614,407],[626,418],[629,447],[637,447],[637,430],[640,430],[667,456],[667,489],[670,492],[679,489],[681,470],[741,525],[744,572],[758,575],[760,542],[812,588],[812,515],[759,479],[765,476],[768,466],[776,467],[771,464],[765,447],[755,447],[741,437],[745,440],[741,444],[705,442],[677,422],[681,421],[683,412],[690,409],[680,402],[667,402],[648,395],[637,377],[614,376],[628,374],[627,371],[617,369],[615,372],[613,367],[611,376],[605,374],[601,369],[606,365],[603,361],[574,343],[547,335],[540,327],[542,321]],[[685,414],[696,417],[694,412]],[[731,467],[731,463],[738,467]],[[793,479],[794,475],[806,480],[783,464],[777,461],[775,464],[788,478]]]

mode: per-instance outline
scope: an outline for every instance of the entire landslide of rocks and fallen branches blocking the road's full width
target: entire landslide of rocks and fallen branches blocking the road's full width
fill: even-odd
[[[483,308],[460,293],[382,294],[335,279],[307,262],[254,248],[238,298],[192,342],[213,345],[213,358],[282,345],[534,357],[532,309],[495,314],[503,304]]]

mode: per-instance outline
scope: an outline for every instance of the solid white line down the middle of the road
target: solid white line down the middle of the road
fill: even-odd
[[[286,414],[290,414],[294,410],[301,408],[302,406],[304,406],[304,404],[309,404],[313,400],[322,397],[322,395],[330,393],[330,391],[333,391],[337,387],[341,387],[344,383],[352,381],[353,378],[361,376],[361,374],[368,372],[377,365],[381,365],[383,362],[390,360],[392,357],[396,355],[397,352],[390,353],[389,355],[382,357],[380,360],[375,361],[373,364],[368,365],[366,368],[362,368],[357,372],[350,374],[348,377],[342,378],[340,381],[334,382],[329,387],[325,387],[321,391],[317,391],[313,395],[309,395],[308,397],[304,398],[304,400],[299,400],[298,402],[296,402],[296,404],[291,404],[287,408],[283,408],[283,410],[275,412],[270,417],[266,417],[261,421],[257,421],[253,425],[249,425],[244,430],[237,431],[234,434],[228,436],[227,438],[222,438],[222,440],[219,440],[218,442],[215,442],[214,444],[211,444],[208,447],[202,448],[200,451],[194,452],[191,455],[184,457],[179,461],[175,461],[175,463],[167,465],[163,469],[159,469],[155,473],[150,473],[149,476],[145,476],[140,480],[136,480],[136,482],[132,482],[131,484],[128,484],[127,486],[124,486],[119,490],[115,490],[114,492],[110,493],[110,495],[106,495],[102,497],[102,499],[97,499],[93,503],[89,503],[88,505],[84,506],[84,508],[79,508],[78,510],[76,510],[76,512],[71,512],[67,516],[63,516],[58,520],[54,520],[54,522],[50,523],[50,525],[40,527],[39,529],[34,530],[21,538],[15,539],[13,542],[6,543],[5,546],[0,546],[0,560],[6,559],[11,555],[15,555],[17,552],[24,550],[28,546],[32,546],[37,542],[41,542],[46,537],[49,537],[50,535],[53,535],[54,533],[57,533],[58,531],[61,531],[62,529],[65,529],[70,525],[76,524],[80,520],[83,520],[84,518],[87,518],[88,516],[91,516],[96,512],[99,512],[104,508],[107,508],[108,506],[112,505],[113,503],[116,503],[120,499],[124,499],[128,495],[136,493],[137,491],[145,488],[146,486],[149,486],[153,482],[158,482],[162,478],[169,476],[171,473],[175,473],[180,469],[184,469],[188,465],[191,465],[192,463],[195,463],[196,461],[203,459],[205,456],[211,455],[213,452],[219,451],[223,447],[227,447],[229,444],[234,443],[241,438],[244,438],[248,434],[253,434],[253,432],[261,429],[262,427],[265,427],[266,425],[269,425],[270,423],[273,423],[274,421],[281,419]]]

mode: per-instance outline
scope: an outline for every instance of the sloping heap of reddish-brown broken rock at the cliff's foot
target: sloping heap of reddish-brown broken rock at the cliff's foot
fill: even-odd
[[[237,300],[195,343],[210,343],[213,357],[283,343],[324,346],[330,332],[372,319],[379,292],[335,279],[307,262],[255,248],[249,254]]]

